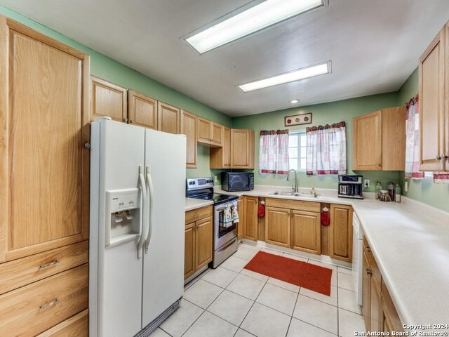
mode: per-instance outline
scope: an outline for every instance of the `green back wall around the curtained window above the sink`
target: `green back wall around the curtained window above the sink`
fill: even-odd
[[[307,126],[333,124],[339,121],[346,122],[347,128],[347,173],[361,174],[364,179],[370,179],[370,188],[375,190],[375,182],[380,181],[382,185],[387,185],[389,181],[398,182],[397,171],[351,171],[352,167],[352,119],[368,112],[380,110],[384,107],[395,107],[397,105],[396,93],[384,93],[371,95],[349,100],[339,100],[337,102],[309,105],[286,110],[267,112],[264,114],[253,114],[250,116],[236,117],[232,119],[233,128],[252,128],[255,131],[255,184],[256,185],[280,185],[290,186],[286,181],[286,175],[259,173],[259,134],[260,130],[285,129],[284,117],[294,114],[312,113],[312,124],[288,127],[289,131],[304,131]],[[337,176],[307,176],[305,172],[299,173],[300,187],[337,188]]]

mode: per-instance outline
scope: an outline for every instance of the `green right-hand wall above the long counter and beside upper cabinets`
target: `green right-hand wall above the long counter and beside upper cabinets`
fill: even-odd
[[[415,96],[418,93],[418,88],[418,70],[415,70],[399,89],[398,104],[404,104]],[[449,211],[448,184],[434,184],[434,179],[431,177],[424,177],[424,180],[406,180],[404,172],[399,172],[399,179],[401,180],[401,186],[408,181],[408,192],[403,192],[406,197]]]

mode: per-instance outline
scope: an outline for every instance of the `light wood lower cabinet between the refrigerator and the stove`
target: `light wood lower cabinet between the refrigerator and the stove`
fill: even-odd
[[[212,206],[186,212],[184,279],[212,260]]]

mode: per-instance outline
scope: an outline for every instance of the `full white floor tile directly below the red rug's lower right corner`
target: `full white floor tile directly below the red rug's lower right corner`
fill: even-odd
[[[338,332],[337,312],[337,308],[333,305],[300,295],[297,298],[293,317],[336,334]]]

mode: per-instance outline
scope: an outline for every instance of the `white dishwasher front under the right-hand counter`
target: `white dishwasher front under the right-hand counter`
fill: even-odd
[[[360,220],[356,213],[352,213],[352,275],[354,278],[354,290],[356,291],[357,303],[362,305],[362,279],[363,279],[363,232]]]

